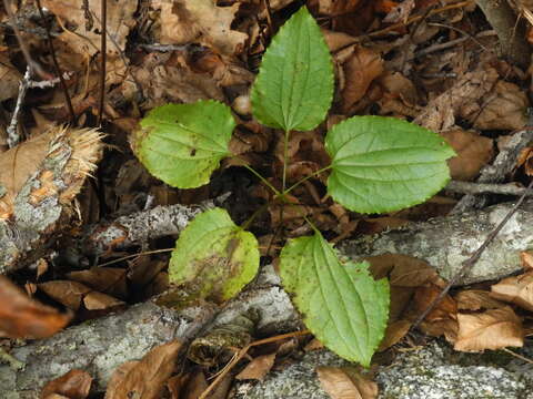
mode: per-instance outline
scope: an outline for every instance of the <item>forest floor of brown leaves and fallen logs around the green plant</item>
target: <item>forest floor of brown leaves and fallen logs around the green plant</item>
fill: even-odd
[[[389,278],[389,326],[370,370],[431,337],[456,351],[527,346],[533,203],[511,204],[531,196],[533,14],[525,0],[491,3],[4,0],[0,399],[231,398],[234,378],[262,380],[322,348],[276,275],[288,238],[312,233],[306,218]],[[285,149],[253,116],[250,88],[272,38],[302,6],[329,47],[335,89],[326,120],[291,134]],[[231,106],[229,149],[239,161],[223,160],[209,184],[174,188],[138,160],[133,133],[149,111],[200,100]],[[440,134],[456,153],[451,182],[420,205],[366,215],[334,203],[325,175],[306,180],[286,205],[243,167],[284,187],[286,153],[289,184],[313,174],[330,163],[325,132],[353,115]],[[172,310],[175,239],[214,206],[258,237],[262,272],[229,304]],[[480,264],[459,276],[485,242]],[[239,317],[252,327],[231,329]],[[332,398],[375,398],[382,388],[359,369],[330,367],[319,379]]]

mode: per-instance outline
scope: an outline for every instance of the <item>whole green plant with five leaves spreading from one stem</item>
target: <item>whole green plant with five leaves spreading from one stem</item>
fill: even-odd
[[[283,130],[282,190],[249,167],[284,201],[291,131],[310,131],[331,106],[333,66],[328,47],[305,8],[273,38],[251,91],[253,115]],[[209,182],[224,157],[235,122],[215,101],[168,104],[141,122],[134,151],[145,167],[168,184],[190,188]],[[331,129],[325,147],[332,162],[329,194],[360,213],[391,212],[419,204],[449,180],[451,147],[435,133],[405,121],[353,116]],[[308,221],[309,222],[309,221]],[[339,260],[313,226],[314,235],[289,241],[280,274],[308,328],[340,356],[364,366],[383,338],[389,285],[374,280],[366,263]],[[194,295],[223,301],[241,290],[259,268],[258,242],[215,208],[198,216],[181,234],[170,260],[170,279]]]

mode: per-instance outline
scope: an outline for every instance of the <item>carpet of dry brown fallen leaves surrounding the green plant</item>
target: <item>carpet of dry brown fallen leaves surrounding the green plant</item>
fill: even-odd
[[[476,24],[480,10],[472,4],[453,7],[454,2],[446,3],[449,9],[441,8],[434,13],[431,10],[440,7],[440,2],[433,0],[314,0],[309,2],[309,8],[314,17],[319,17],[334,60],[336,89],[329,121],[336,123],[353,114],[414,120],[440,133],[455,150],[456,156],[449,161],[452,177],[473,181],[497,153],[495,140],[502,141],[527,124],[525,109],[530,105],[529,88],[523,73],[513,70],[515,68],[502,59],[496,59],[489,50],[494,48],[496,37],[484,31],[486,25]],[[139,3],[119,0],[110,3],[107,16],[110,34],[107,38],[104,108],[105,133],[110,139],[98,171],[100,186],[97,190],[86,183],[83,187],[83,193],[99,192],[92,196],[97,198],[93,200],[97,205],[87,201],[90,195],[83,195],[79,205],[64,209],[69,216],[77,215],[74,223],[58,223],[60,228],[53,227],[64,236],[72,237],[72,247],[76,247],[76,237],[91,218],[98,222],[101,217],[140,211],[149,201],[154,201],[152,205],[169,205],[182,198],[212,198],[231,191],[231,209],[243,207],[240,205],[242,203],[251,208],[251,204],[263,204],[270,200],[262,191],[262,183],[250,176],[245,185],[235,183],[234,174],[242,174],[241,161],[223,164],[223,171],[214,184],[187,192],[137,174],[141,166],[132,164],[134,161],[129,149],[131,126],[147,111],[169,102],[192,103],[214,99],[232,104],[240,115],[237,134],[230,144],[232,152],[239,154],[244,163],[266,172],[274,186],[280,185],[283,146],[272,130],[252,119],[249,88],[254,80],[261,51],[295,10],[295,2],[271,0],[270,10],[264,4],[263,1],[211,0]],[[43,0],[42,6],[48,9],[56,53],[68,78],[78,122],[90,126],[98,112],[99,61],[102,57],[100,9],[93,2],[89,2],[87,9],[81,0]],[[22,39],[31,43],[36,62],[53,72],[51,54],[42,34],[42,22],[24,17],[33,10],[29,3],[22,2],[14,10],[21,16]],[[2,22],[8,21],[4,11],[1,11],[0,18]],[[21,49],[6,25],[2,27],[0,47],[3,89],[0,92],[4,111],[9,113],[14,109],[19,80],[26,68],[21,63]],[[7,112],[1,115],[0,217],[3,219],[16,212],[13,204],[28,178],[43,171],[40,165],[46,164],[50,154],[47,149],[50,144],[47,126],[68,122],[59,84],[31,89],[26,101],[29,106],[22,110],[19,130],[28,134],[28,140],[17,149],[7,151],[10,120]],[[311,132],[299,132],[291,136],[290,183],[329,164],[324,133],[324,126],[319,125]],[[91,145],[95,147],[99,144],[94,141]],[[100,151],[99,146],[95,152]],[[523,182],[523,175],[531,174],[530,157],[524,152],[515,175],[510,176],[511,181]],[[97,160],[98,156],[91,154],[80,162]],[[128,162],[132,166],[122,172],[121,181],[118,171]],[[67,181],[66,187],[52,184],[49,175],[41,174],[39,191],[34,192],[36,201],[46,201],[58,191],[64,191],[62,198],[70,204],[90,173],[93,170],[86,167],[76,178]],[[123,181],[124,175],[132,174],[137,177]],[[269,206],[268,216],[257,219],[252,227],[259,234],[259,241],[264,243],[262,255],[266,254],[269,247],[269,255],[275,260],[275,249],[282,241],[275,232],[284,229],[286,237],[300,236],[304,232],[303,216],[315,219],[330,241],[339,241],[354,234],[376,234],[409,222],[445,214],[456,200],[443,196],[447,203],[432,207],[429,205],[431,202],[439,202],[434,197],[414,209],[380,217],[361,215],[334,205],[324,195],[326,177],[328,173],[323,173],[310,178],[292,193],[293,205],[284,207],[283,222],[276,204]],[[240,198],[244,197],[249,198],[248,202],[240,203]],[[250,216],[250,209],[240,212],[243,216],[238,222],[242,223]],[[49,243],[56,248],[61,246],[58,239]],[[160,249],[164,243],[153,241],[143,246],[143,249]],[[130,254],[110,247],[103,258],[114,259]],[[47,257],[47,254],[43,256]],[[531,257],[527,254],[523,256],[524,259]],[[62,304],[74,313],[77,323],[145,300],[169,285],[165,272],[168,256],[164,253],[123,262],[119,267],[90,267],[99,264],[99,259],[87,256],[82,250],[69,257],[61,253],[60,259],[54,260],[51,268],[27,277],[37,285],[36,296],[39,299],[46,304]],[[416,315],[440,293],[444,283],[422,259],[393,254],[369,262],[374,277],[386,276],[391,282],[393,306],[381,346],[381,350],[385,350],[405,337]],[[18,280],[22,282],[20,276]],[[3,277],[0,283],[0,295],[10,298],[2,300],[0,306],[0,330],[3,336],[42,338],[69,323],[70,313],[61,313],[28,298]],[[444,336],[455,350],[520,347],[527,331],[523,320],[531,318],[533,310],[531,285],[532,274],[525,270],[524,274],[480,289],[457,289],[430,313],[421,329],[429,335]],[[124,366],[120,376],[113,379],[113,385],[110,383],[108,397],[120,397],[122,393],[119,392],[124,391],[143,391],[148,392],[147,397],[159,397],[165,383],[169,391],[172,391],[171,385],[175,392],[182,390],[175,388],[181,383],[189,385],[190,389],[187,390],[191,391],[194,385],[201,386],[198,389],[201,392],[208,383],[201,382],[202,376],[204,372],[210,375],[212,370],[195,369],[187,378],[181,375],[182,382],[178,382],[180,379],[175,375],[171,377],[175,371],[178,350],[179,345],[171,342],[155,355],[147,355],[143,360]],[[264,378],[275,367],[274,358],[279,360],[279,356],[272,354],[254,354],[248,375],[242,376]],[[223,364],[217,366],[222,368]],[[153,376],[148,385],[143,382],[145,374]],[[370,398],[376,395],[371,382],[365,382],[366,388],[363,388],[361,380],[346,370],[321,369],[319,376],[333,398]],[[82,377],[81,371],[72,370],[43,388],[43,395],[87,397],[84,388],[80,388],[79,392],[69,390],[71,378],[83,379],[80,387],[90,386],[90,377]]]

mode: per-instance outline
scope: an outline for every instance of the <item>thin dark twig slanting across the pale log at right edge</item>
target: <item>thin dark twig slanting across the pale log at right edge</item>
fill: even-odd
[[[531,180],[530,184],[527,185],[527,188],[526,191],[530,191],[531,187],[533,187],[533,178]],[[470,258],[467,258],[466,260],[463,262],[462,264],[462,267],[461,269],[455,273],[455,275],[450,279],[450,282],[447,283],[447,285],[444,287],[444,289],[439,294],[439,296],[433,299],[433,301],[425,308],[425,310],[416,318],[416,320],[414,320],[413,325],[411,326],[411,329],[414,329],[415,327],[418,327],[425,318],[425,316],[428,316],[434,308],[436,305],[440,304],[440,301],[446,296],[446,294],[450,291],[450,289],[455,285],[455,283],[462,277],[464,276],[464,274],[466,272],[469,272],[475,264],[476,262],[480,259],[481,255],[483,254],[483,252],[486,249],[486,247],[492,243],[492,241],[496,237],[496,235],[500,233],[500,231],[503,228],[503,226],[505,226],[505,224],[509,222],[509,219],[516,213],[516,211],[519,209],[520,205],[522,205],[522,203],[524,202],[525,200],[525,194],[527,194],[527,192],[525,192],[520,198],[519,201],[516,202],[516,204],[514,204],[514,206],[507,212],[507,214],[505,215],[505,217],[502,219],[502,222],[500,222],[500,224],[496,226],[496,228],[494,228],[491,234],[489,234],[489,236],[485,238],[485,241],[483,242],[483,244],[477,248],[476,252],[474,252],[472,254],[472,256]]]

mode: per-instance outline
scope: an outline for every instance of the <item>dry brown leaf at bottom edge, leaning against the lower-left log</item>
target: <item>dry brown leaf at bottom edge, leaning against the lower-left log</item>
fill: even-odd
[[[127,362],[111,376],[105,399],[159,399],[174,370],[181,342],[173,340],[150,350],[140,361]],[[121,369],[122,368],[122,369]]]

